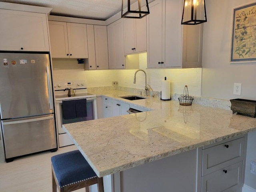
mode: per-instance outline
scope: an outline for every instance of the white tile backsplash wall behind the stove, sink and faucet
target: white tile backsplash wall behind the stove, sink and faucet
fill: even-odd
[[[154,91],[161,90],[161,80],[166,76],[172,93],[182,94],[184,86],[188,85],[190,95],[201,96],[201,68],[146,69],[146,53],[140,54],[139,59],[140,68],[146,70],[147,83]],[[88,87],[112,86],[112,81],[129,88],[144,89],[145,86],[143,72],[137,73],[136,84],[133,83],[136,69],[84,71],[84,65],[77,64],[76,59],[53,59],[53,69],[54,81],[86,80]]]

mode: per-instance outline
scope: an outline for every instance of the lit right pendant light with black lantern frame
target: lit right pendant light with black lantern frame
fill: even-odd
[[[204,0],[184,0],[181,24],[197,25],[204,22],[207,22]]]

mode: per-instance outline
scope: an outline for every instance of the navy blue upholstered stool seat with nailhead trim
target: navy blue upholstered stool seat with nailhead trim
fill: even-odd
[[[51,160],[60,188],[97,177],[79,150],[53,156]]]

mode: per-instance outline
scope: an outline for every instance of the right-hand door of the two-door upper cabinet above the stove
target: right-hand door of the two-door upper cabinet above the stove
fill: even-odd
[[[86,24],[67,23],[70,58],[88,58]]]

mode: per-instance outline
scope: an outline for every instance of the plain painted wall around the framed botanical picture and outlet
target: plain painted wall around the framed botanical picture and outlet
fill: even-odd
[[[232,8],[252,0],[206,0],[202,54],[202,96],[230,100],[256,100],[256,63],[230,64]],[[233,95],[234,83],[242,83],[241,96]]]

